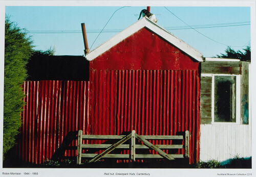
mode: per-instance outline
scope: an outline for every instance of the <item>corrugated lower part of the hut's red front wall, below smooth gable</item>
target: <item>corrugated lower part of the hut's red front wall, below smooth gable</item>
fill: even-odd
[[[199,159],[197,70],[93,70],[90,77],[91,134],[120,135],[135,130],[140,135],[179,135],[188,130],[189,162]],[[108,80],[113,80],[110,86],[104,84]],[[115,103],[103,108],[109,99]],[[184,149],[169,151],[184,153]]]

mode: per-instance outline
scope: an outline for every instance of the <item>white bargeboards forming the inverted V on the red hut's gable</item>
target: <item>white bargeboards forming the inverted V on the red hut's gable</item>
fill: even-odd
[[[114,45],[118,44],[119,42],[121,42],[125,38],[131,36],[132,34],[134,34],[135,32],[139,31],[142,28],[147,28],[147,29],[153,31],[154,33],[161,36],[163,39],[165,39],[169,43],[178,47],[180,50],[182,50],[184,53],[186,53],[190,57],[196,59],[199,62],[203,62],[203,55],[200,52],[198,52],[198,50],[191,47],[190,45],[188,45],[181,39],[177,38],[172,33],[169,33],[167,30],[160,27],[158,24],[151,21],[147,17],[143,17],[142,19],[138,20],[136,23],[132,24],[130,27],[128,27],[125,30],[123,30],[122,32],[116,34],[114,37],[112,37],[108,41],[99,45],[97,48],[95,48],[94,50],[92,50],[91,52],[89,52],[86,55],[86,59],[89,61],[92,61],[99,55],[106,52],[106,50],[109,50]]]

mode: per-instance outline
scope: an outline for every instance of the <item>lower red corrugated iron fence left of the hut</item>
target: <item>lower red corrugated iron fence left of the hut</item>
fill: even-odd
[[[26,81],[26,105],[18,137],[18,157],[34,164],[55,153],[76,156],[78,130],[89,132],[90,83],[88,81]],[[65,146],[65,143],[70,147]],[[64,148],[64,151],[63,149]],[[61,154],[62,153],[62,154]]]

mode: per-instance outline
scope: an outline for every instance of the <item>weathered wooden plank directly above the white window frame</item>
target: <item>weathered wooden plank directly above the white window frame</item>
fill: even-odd
[[[219,67],[202,67],[201,73],[212,73],[212,74],[240,74],[240,67],[228,67],[228,66],[219,66]]]

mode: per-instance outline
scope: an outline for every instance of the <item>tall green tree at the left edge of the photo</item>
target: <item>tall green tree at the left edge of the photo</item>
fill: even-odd
[[[33,52],[32,40],[7,17],[5,19],[4,141],[3,154],[15,145],[22,124],[24,106],[22,85],[26,64]],[[4,156],[3,156],[4,157]]]

